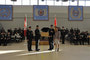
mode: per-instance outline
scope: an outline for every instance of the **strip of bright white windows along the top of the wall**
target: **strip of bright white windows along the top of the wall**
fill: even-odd
[[[78,0],[0,0],[0,5],[49,5],[49,6],[77,6]],[[79,6],[90,6],[90,0],[79,0]]]

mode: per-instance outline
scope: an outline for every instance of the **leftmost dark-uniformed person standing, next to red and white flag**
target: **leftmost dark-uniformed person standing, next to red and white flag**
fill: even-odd
[[[33,31],[31,30],[30,26],[27,30],[28,51],[32,51],[32,39],[33,39]]]

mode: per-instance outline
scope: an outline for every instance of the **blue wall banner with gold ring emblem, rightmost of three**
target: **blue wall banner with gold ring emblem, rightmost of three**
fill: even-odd
[[[70,21],[82,21],[83,20],[83,6],[69,6],[68,18]]]

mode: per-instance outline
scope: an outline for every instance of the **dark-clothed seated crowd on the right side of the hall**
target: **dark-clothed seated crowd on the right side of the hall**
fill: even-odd
[[[62,33],[62,31],[61,31]],[[61,34],[62,36],[62,34]],[[70,44],[75,44],[75,45],[84,45],[86,43],[88,43],[89,45],[89,33],[88,31],[83,31],[80,32],[80,29],[78,28],[71,28],[69,29],[65,29],[65,38],[66,40],[68,40],[70,42]]]

